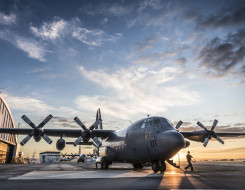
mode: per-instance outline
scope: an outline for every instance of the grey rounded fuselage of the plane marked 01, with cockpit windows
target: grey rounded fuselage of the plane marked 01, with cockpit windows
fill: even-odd
[[[186,141],[163,117],[148,117],[102,141],[99,156],[111,162],[165,161],[186,146]]]

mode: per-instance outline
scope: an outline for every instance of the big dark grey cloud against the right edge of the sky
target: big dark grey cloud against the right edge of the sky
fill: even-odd
[[[201,49],[198,60],[207,74],[224,77],[228,74],[245,74],[245,28],[229,33],[226,39],[215,37]]]

